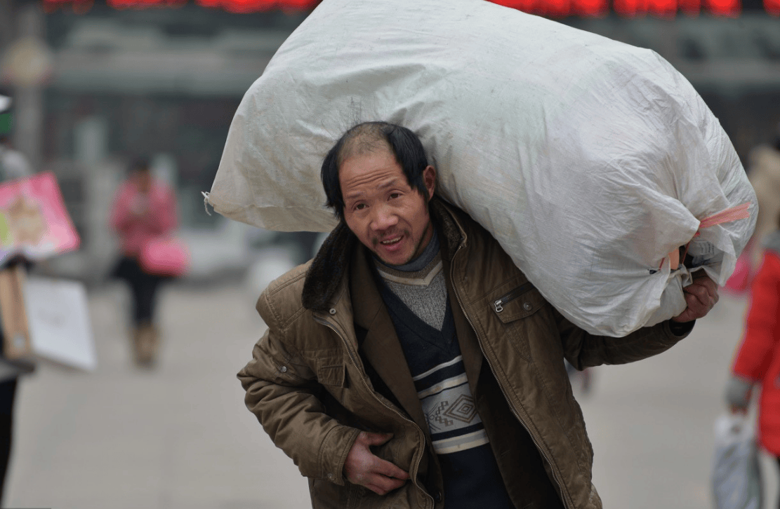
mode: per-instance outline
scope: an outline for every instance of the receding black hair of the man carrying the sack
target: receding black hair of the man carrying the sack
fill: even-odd
[[[412,189],[427,200],[423,172],[428,165],[420,138],[410,129],[389,122],[362,122],[353,125],[339,138],[322,161],[320,178],[328,201],[339,220],[344,219],[344,197],[339,182],[339,168],[347,158],[375,150],[389,149],[401,166]]]

